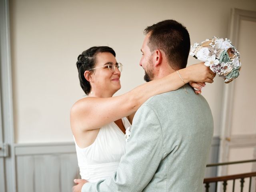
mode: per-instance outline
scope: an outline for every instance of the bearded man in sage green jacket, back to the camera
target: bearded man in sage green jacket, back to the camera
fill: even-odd
[[[145,29],[140,66],[146,81],[185,68],[188,31],[175,20]],[[180,76],[182,80],[182,76]],[[210,107],[189,85],[148,99],[136,112],[126,153],[112,177],[76,180],[82,192],[202,192],[213,134]]]

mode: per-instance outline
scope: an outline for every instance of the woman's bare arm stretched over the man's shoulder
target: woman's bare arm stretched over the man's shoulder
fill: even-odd
[[[203,63],[195,64],[179,70],[185,83],[212,82],[209,79],[212,71]],[[133,90],[111,98],[82,98],[76,102],[70,112],[71,128],[74,131],[84,132],[98,129],[105,124],[129,116],[151,96],[177,90],[184,85],[176,72],[147,83]],[[132,120],[131,120],[132,121]]]

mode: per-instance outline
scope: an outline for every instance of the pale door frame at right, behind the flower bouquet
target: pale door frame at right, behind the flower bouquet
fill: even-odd
[[[241,20],[256,21],[256,12],[232,9],[230,16],[230,26],[228,29],[228,38],[239,50],[238,38],[239,38],[239,28]],[[231,126],[232,126],[232,110],[234,101],[234,87],[236,81],[230,84],[226,84],[223,89],[223,99],[222,99],[222,120],[220,126],[220,152],[219,152],[219,162],[228,162],[229,151],[232,147],[244,147],[244,146],[256,146],[256,134],[255,135],[244,135],[244,136],[232,136]],[[254,156],[256,156],[254,152]],[[254,166],[253,166],[254,167]],[[227,166],[220,166],[218,168],[218,175],[226,175]]]

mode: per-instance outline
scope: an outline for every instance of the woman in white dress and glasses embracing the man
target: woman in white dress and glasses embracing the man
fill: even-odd
[[[190,81],[198,82],[191,85],[200,93],[203,82],[213,82],[208,78],[213,72],[200,63],[179,70],[184,82],[177,73],[172,73],[112,97],[121,88],[122,64],[115,56],[108,46],[91,47],[82,52],[76,62],[80,85],[88,97],[72,106],[70,124],[80,175],[89,182],[106,179],[117,170],[125,153],[126,129],[131,126],[136,110],[148,98],[176,90]]]

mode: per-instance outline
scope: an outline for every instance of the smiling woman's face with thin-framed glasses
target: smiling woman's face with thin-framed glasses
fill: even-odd
[[[117,64],[114,55],[109,52],[98,53],[96,55],[96,65],[94,68],[104,66],[110,62]],[[94,69],[91,81],[92,91],[96,94],[100,94],[102,97],[112,96],[121,88],[120,75],[121,73],[117,67],[114,72],[111,72],[108,66]]]

